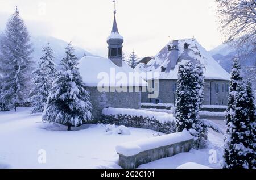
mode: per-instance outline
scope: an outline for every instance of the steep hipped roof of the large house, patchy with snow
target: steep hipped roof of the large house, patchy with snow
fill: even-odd
[[[158,72],[159,79],[177,79],[179,62],[189,60],[204,65],[205,79],[229,80],[227,73],[218,62],[195,40],[170,41],[150,62],[138,64],[137,72]],[[147,79],[147,77],[143,77]]]

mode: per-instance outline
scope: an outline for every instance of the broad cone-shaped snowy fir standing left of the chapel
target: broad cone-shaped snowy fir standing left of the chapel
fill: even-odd
[[[77,68],[75,49],[70,43],[65,49],[66,56],[61,60],[61,69],[53,82],[42,116],[43,121],[66,125],[71,131],[71,127],[91,120],[92,104]]]

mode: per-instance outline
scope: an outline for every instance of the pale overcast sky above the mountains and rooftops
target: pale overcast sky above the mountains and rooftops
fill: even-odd
[[[0,0],[0,30],[18,6],[32,36],[72,41],[96,55],[107,55],[113,0]],[[214,0],[117,0],[123,50],[154,56],[170,39],[195,36],[207,50],[220,45]]]

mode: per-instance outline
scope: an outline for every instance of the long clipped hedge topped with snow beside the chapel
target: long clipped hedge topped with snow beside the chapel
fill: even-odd
[[[163,133],[176,132],[175,118],[172,114],[163,112],[104,108],[101,123],[152,129]]]

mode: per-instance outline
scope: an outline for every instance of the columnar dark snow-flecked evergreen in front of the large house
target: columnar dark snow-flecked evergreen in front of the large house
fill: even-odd
[[[184,129],[189,131],[193,136],[198,137],[195,148],[200,148],[201,142],[204,141],[204,130],[199,120],[199,108],[201,101],[200,93],[203,87],[201,79],[201,65],[197,69],[189,61],[179,63],[178,80],[177,80],[177,100],[175,118],[177,120],[177,132]],[[200,78],[199,78],[200,75]],[[200,79],[200,80],[199,80]]]

